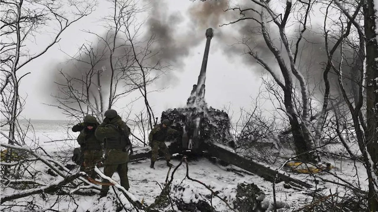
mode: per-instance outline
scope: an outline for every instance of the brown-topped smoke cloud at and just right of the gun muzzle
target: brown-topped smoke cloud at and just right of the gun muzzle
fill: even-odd
[[[246,46],[244,45],[246,44],[253,48],[253,50],[256,51],[261,58],[267,61],[267,63],[274,63],[273,54],[266,46],[261,34],[260,26],[257,22],[253,20],[244,20],[231,25],[223,25],[240,17],[240,11],[230,9],[232,6],[230,6],[229,0],[208,0],[205,2],[197,1],[195,3],[196,4],[193,4],[189,9],[192,22],[197,26],[214,28],[214,40],[217,40],[218,43],[220,43],[220,46],[217,46],[217,48],[222,49],[225,55],[229,58],[234,58],[235,56],[239,57],[246,52]],[[249,7],[256,10],[260,9],[260,6],[251,1],[246,2],[240,7]],[[244,14],[245,17],[259,19],[257,14],[252,11],[246,11]],[[277,36],[276,33],[273,33],[272,35]],[[214,49],[213,46],[212,49]],[[242,58],[248,65],[257,65],[249,55],[242,55]]]

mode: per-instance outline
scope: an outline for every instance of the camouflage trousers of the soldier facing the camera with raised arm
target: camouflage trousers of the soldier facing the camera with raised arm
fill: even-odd
[[[102,161],[102,150],[85,150],[83,154],[83,164],[81,171],[87,173],[91,178],[96,178],[95,165],[99,167]]]

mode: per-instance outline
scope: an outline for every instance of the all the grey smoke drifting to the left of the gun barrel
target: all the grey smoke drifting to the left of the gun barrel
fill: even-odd
[[[148,19],[144,25],[143,34],[135,41],[139,45],[141,51],[146,50],[152,52],[144,63],[150,66],[160,64],[161,66],[171,65],[174,71],[180,71],[183,66],[183,59],[189,55],[190,50],[197,46],[201,41],[205,40],[204,30],[200,26],[196,26],[195,23],[189,22],[189,25],[184,30],[178,30],[178,26],[183,24],[183,16],[180,13],[169,14],[167,12],[167,3],[165,0],[144,0],[149,3],[151,10],[149,11]],[[125,45],[125,41],[117,35],[119,39],[116,39],[116,49],[113,52],[113,58],[122,58],[122,61],[127,61],[130,58],[130,46]],[[50,88],[45,92],[53,91],[53,95],[66,98],[65,92],[62,92],[61,88],[67,84],[68,78],[74,78],[76,80],[71,81],[73,89],[82,91],[82,82],[88,80],[88,72],[96,72],[105,68],[107,71],[103,72],[100,76],[101,91],[106,97],[109,93],[109,81],[111,77],[110,72],[110,46],[113,45],[114,32],[104,32],[101,36],[105,40],[97,40],[90,45],[83,46],[78,55],[74,59],[67,61],[66,63],[60,63],[53,69],[55,73],[50,81]],[[153,38],[153,41],[150,39]],[[123,47],[122,47],[123,46]],[[85,49],[85,48],[86,49]],[[121,48],[122,47],[122,48]],[[148,49],[143,49],[148,48]],[[151,56],[152,55],[152,56]],[[117,59],[117,60],[118,60]],[[116,61],[113,61],[114,63]],[[115,65],[115,64],[113,64]],[[115,65],[119,68],[119,65]],[[64,76],[57,73],[57,70],[61,71]],[[170,71],[164,75],[165,83],[171,83],[175,78],[174,71]],[[91,86],[89,89],[90,96],[99,99],[97,76],[93,77]],[[57,84],[60,84],[57,88]],[[123,82],[125,83],[125,82]],[[120,82],[121,84],[121,82]],[[123,84],[124,86],[125,84]],[[122,84],[121,84],[122,86]],[[50,93],[48,94],[50,95]],[[75,108],[76,107],[76,108]],[[78,105],[74,106],[77,109]]]

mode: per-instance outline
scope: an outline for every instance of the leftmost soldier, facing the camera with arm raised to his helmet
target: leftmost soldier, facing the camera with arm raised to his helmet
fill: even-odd
[[[95,136],[95,130],[99,123],[96,118],[91,115],[84,117],[84,122],[73,126],[73,132],[79,132],[77,143],[80,144],[81,156],[83,161],[80,166],[80,171],[85,171],[89,177],[96,178],[95,165],[101,166],[102,161],[102,146],[101,140]]]

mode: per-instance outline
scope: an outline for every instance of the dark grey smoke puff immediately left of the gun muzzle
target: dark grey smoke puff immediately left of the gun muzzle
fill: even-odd
[[[147,31],[145,34],[146,38],[154,36],[156,39],[151,48],[153,52],[157,52],[156,56],[151,58],[152,63],[159,61],[163,65],[171,65],[174,69],[163,78],[161,85],[167,86],[177,81],[174,72],[180,71],[183,68],[183,60],[189,56],[191,49],[206,40],[204,36],[205,29],[208,26],[212,26],[214,21],[206,23],[204,21],[197,22],[191,20],[186,27],[183,27],[183,15],[178,12],[168,14],[168,5],[165,0],[144,1],[149,3],[152,8],[147,19]],[[198,4],[194,3],[194,5]],[[214,12],[210,12],[209,14],[214,14],[213,17],[219,17],[219,13],[222,11],[218,9],[219,7],[223,7],[223,5],[216,6],[212,10]],[[209,11],[209,8],[206,8],[206,10]],[[189,13],[201,18],[201,13],[195,8],[189,9]]]

